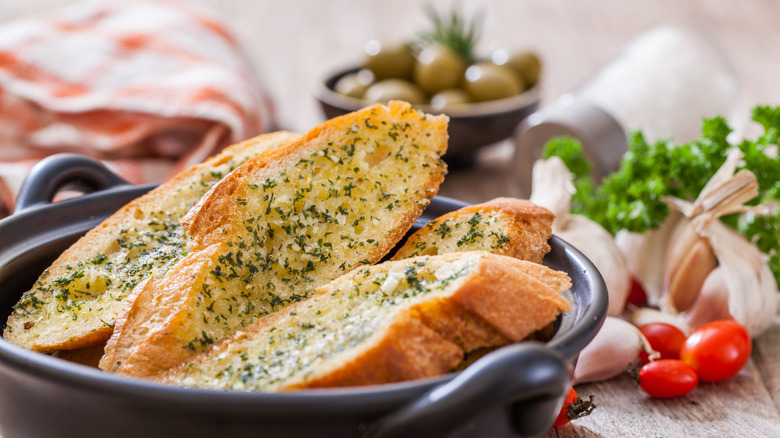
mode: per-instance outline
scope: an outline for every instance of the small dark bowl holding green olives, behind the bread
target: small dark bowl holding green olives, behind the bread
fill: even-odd
[[[366,102],[333,91],[336,82],[358,69],[351,68],[328,76],[317,90],[317,100],[327,118],[333,118],[366,106]],[[520,122],[539,106],[539,86],[522,94],[492,102],[479,102],[447,110],[450,117],[449,146],[444,160],[454,166],[468,165],[483,146],[509,138]],[[429,113],[437,111],[426,105],[415,107]]]

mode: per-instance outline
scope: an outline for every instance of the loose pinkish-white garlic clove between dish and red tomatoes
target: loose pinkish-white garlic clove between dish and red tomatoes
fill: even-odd
[[[593,340],[580,352],[574,367],[574,384],[611,379],[625,372],[643,350],[651,356],[657,355],[638,328],[608,316]]]

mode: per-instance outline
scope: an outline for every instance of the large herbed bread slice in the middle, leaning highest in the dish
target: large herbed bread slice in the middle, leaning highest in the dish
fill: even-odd
[[[446,146],[446,116],[391,102],[246,161],[185,217],[193,249],[180,262],[186,269],[134,292],[101,368],[159,373],[378,262],[438,191]]]

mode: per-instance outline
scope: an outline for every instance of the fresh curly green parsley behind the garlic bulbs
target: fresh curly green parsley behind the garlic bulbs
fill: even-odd
[[[732,129],[720,116],[705,119],[701,137],[679,145],[665,139],[648,143],[641,131],[633,132],[620,168],[601,185],[593,184],[590,163],[575,139],[553,139],[544,157],[560,157],[575,175],[573,213],[613,234],[622,229],[644,232],[657,228],[669,214],[662,196],[696,199],[735,146],[744,154],[740,168],[751,170],[758,180],[759,195],[750,204],[780,204],[780,107],[755,107],[752,118],[764,128],[763,134],[738,144],[729,142]],[[731,215],[722,220],[770,256],[769,266],[780,281],[780,208],[767,216]]]

